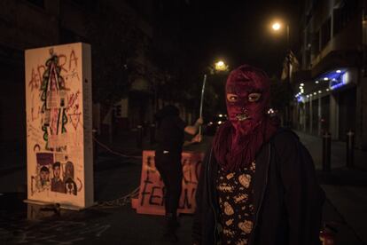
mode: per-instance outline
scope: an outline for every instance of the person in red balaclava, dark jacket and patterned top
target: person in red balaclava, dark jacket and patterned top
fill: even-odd
[[[193,244],[320,244],[324,192],[308,150],[269,110],[269,78],[243,65],[226,83],[229,121],[197,191]]]

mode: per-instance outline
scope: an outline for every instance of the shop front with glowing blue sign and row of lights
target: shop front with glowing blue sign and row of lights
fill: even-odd
[[[325,131],[333,139],[345,141],[355,131],[358,72],[354,67],[339,67],[300,83],[296,94],[300,130],[321,136]],[[301,116],[302,115],[302,116]]]

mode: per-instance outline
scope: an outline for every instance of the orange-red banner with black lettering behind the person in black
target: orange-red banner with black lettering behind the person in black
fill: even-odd
[[[199,172],[203,153],[183,152],[183,190],[178,205],[178,213],[190,214],[195,211],[195,194],[198,186]],[[165,215],[164,184],[159,171],[155,168],[154,151],[143,152],[142,175],[137,199],[131,201],[137,213]]]

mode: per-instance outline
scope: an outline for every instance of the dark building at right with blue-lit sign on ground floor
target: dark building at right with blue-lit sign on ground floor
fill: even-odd
[[[365,0],[304,1],[301,72],[295,75],[293,122],[299,130],[367,149]],[[306,73],[305,73],[306,71]]]

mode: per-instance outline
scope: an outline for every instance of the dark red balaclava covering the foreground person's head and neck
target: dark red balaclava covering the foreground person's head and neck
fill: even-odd
[[[225,91],[229,121],[214,139],[215,157],[225,170],[248,166],[277,130],[277,120],[267,114],[269,85],[262,70],[248,65],[228,76]]]

